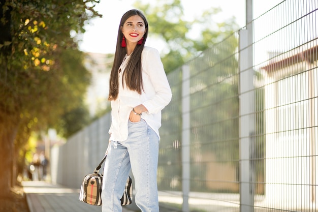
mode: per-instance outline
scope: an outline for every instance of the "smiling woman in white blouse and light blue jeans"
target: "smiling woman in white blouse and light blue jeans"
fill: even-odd
[[[112,124],[104,168],[102,211],[120,212],[132,169],[135,202],[142,212],[159,211],[157,162],[161,110],[172,94],[158,51],[145,46],[148,22],[139,10],[120,21],[109,83]]]

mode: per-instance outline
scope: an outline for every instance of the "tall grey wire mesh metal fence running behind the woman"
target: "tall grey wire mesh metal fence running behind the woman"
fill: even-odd
[[[317,10],[318,0],[283,1],[168,75],[162,207],[316,211]],[[77,188],[103,156],[109,125],[107,114],[53,148],[53,181]]]

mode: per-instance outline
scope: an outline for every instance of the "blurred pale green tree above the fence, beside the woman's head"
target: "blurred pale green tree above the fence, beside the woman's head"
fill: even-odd
[[[213,21],[213,17],[221,12],[219,8],[207,8],[202,16],[189,21],[185,20],[180,0],[156,0],[156,3],[151,2],[151,4],[137,1],[135,7],[147,16],[149,36],[166,44],[162,60],[167,73],[174,71],[238,29],[234,17],[220,23]],[[190,37],[190,33],[197,28],[201,36]]]

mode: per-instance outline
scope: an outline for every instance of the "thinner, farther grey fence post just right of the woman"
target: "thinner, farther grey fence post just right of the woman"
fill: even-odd
[[[182,211],[189,212],[190,192],[190,69],[182,66]]]

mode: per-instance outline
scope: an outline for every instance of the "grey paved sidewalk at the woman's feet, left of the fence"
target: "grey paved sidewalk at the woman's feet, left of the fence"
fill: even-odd
[[[45,181],[23,181],[30,212],[101,212],[102,207],[79,200],[79,189],[52,185]],[[122,212],[133,212],[124,206]]]

